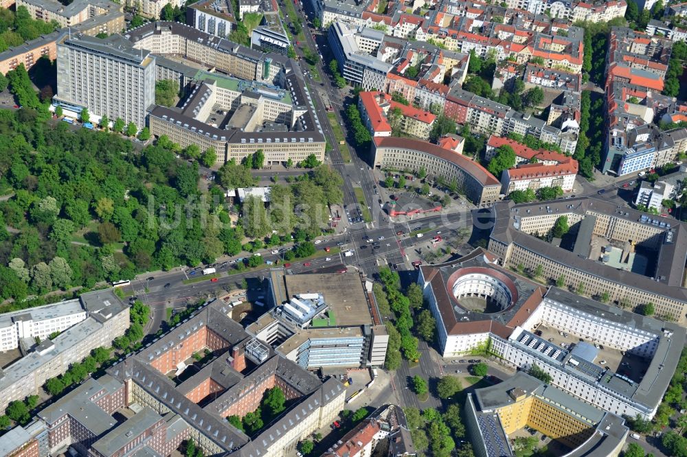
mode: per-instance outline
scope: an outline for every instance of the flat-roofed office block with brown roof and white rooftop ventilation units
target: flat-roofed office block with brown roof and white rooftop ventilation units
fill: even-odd
[[[274,269],[269,294],[271,310],[246,330],[287,359],[309,370],[383,366],[389,336],[359,274]]]

